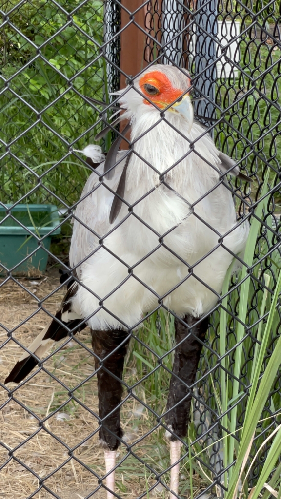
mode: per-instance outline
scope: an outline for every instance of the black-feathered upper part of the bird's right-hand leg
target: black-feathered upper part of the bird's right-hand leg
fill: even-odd
[[[198,319],[191,315],[184,317],[184,322],[189,326],[186,327],[181,322],[175,322],[175,342],[178,344],[174,352],[174,362],[172,372],[175,376],[171,376],[169,394],[167,400],[167,410],[171,411],[166,416],[166,424],[178,437],[185,437],[187,432],[189,412],[191,405],[191,393],[189,394],[189,386],[195,381],[196,370],[202,350],[202,344],[197,341],[204,340],[208,327],[208,317],[205,317],[199,324]],[[194,325],[195,324],[195,325]],[[180,378],[182,382],[177,379]],[[189,394],[189,395],[188,395]],[[186,397],[186,395],[188,395]],[[186,397],[184,399],[184,397]],[[180,402],[177,407],[172,407]],[[171,440],[176,440],[175,436],[171,436]]]

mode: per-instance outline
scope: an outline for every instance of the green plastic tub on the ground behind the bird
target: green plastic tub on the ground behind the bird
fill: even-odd
[[[6,206],[9,208],[11,205]],[[40,238],[56,228],[41,243],[43,248],[49,250],[51,237],[60,233],[60,227],[57,227],[59,224],[57,207],[54,205],[26,206],[19,204],[12,208],[11,213],[15,220],[10,216],[4,220],[6,209],[0,206],[0,275],[6,274],[1,263],[9,270],[15,267],[12,270],[13,275],[35,276],[43,273],[46,270],[48,253],[42,248],[39,248],[30,258],[22,262],[26,256],[38,248],[38,243],[36,238],[21,227],[17,221]]]

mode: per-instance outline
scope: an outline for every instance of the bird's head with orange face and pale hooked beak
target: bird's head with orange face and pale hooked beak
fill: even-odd
[[[158,64],[150,67],[136,78],[133,87],[122,90],[121,106],[129,114],[167,111],[187,122],[188,132],[193,123],[193,108],[188,89],[190,78],[174,66]],[[121,92],[120,92],[121,93]]]

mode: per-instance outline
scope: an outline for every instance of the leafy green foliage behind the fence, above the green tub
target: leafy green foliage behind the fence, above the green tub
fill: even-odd
[[[70,0],[64,8],[71,11],[79,3]],[[9,2],[6,10],[16,4]],[[103,98],[102,15],[102,1],[93,0],[77,10],[71,23],[67,12],[43,0],[24,2],[10,14],[22,34],[11,26],[1,32],[2,75],[11,78],[0,96],[1,152],[14,140],[11,155],[1,160],[1,201],[17,201],[33,188],[29,203],[59,204],[52,193],[67,205],[77,201],[89,170],[67,154],[70,144],[82,149],[95,134],[87,130],[98,111],[79,94]],[[41,46],[39,57],[36,46]]]

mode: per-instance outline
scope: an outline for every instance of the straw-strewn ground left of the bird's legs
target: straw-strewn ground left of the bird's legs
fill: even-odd
[[[19,283],[30,289],[39,299],[51,293],[59,285],[58,278],[53,276],[42,277],[38,280],[19,279]],[[61,289],[50,296],[44,302],[45,308],[53,312],[58,307],[64,292],[65,290]],[[33,337],[48,322],[45,312],[37,312],[36,300],[11,281],[0,288],[0,309],[1,323],[8,329],[12,329],[29,317],[28,322],[23,323],[13,333],[13,337],[25,346],[30,344]],[[88,334],[85,332],[83,339],[86,341],[88,340],[87,336]],[[6,332],[1,327],[1,344],[5,339]],[[80,339],[82,339],[81,336]],[[69,382],[67,386],[72,387],[84,378],[79,370],[75,373],[71,372],[75,364],[79,363],[80,360],[84,360],[82,353],[82,349],[77,348],[76,344],[72,341],[59,354],[56,354],[54,358],[46,363],[46,368],[64,383],[67,384]],[[12,340],[8,341],[1,348],[2,383],[20,355],[20,347]],[[67,365],[64,362],[66,359]],[[84,362],[83,364],[84,375],[92,372],[92,361],[89,357],[87,360],[88,362]],[[9,388],[16,386],[15,384],[10,384]],[[90,391],[91,397],[89,397],[87,403],[91,410],[96,411],[97,397],[95,382],[91,384],[91,388],[88,387],[88,395],[90,395]],[[14,449],[24,442],[13,453],[15,459],[6,462],[7,464],[0,472],[1,498],[23,499],[28,497],[38,487],[38,479],[28,472],[24,468],[24,465],[32,469],[40,478],[49,475],[68,459],[67,446],[74,447],[97,427],[97,423],[90,413],[81,410],[79,406],[74,408],[72,404],[73,410],[71,405],[67,404],[63,409],[59,410],[58,414],[51,417],[45,423],[45,428],[50,432],[49,434],[44,429],[40,430],[36,418],[21,406],[23,404],[38,418],[44,418],[59,405],[59,402],[67,401],[67,399],[67,390],[52,380],[45,372],[41,371],[30,382],[17,389],[13,393],[13,399],[0,411],[0,440],[6,446],[4,448],[2,445],[0,448],[1,465],[8,459],[7,449]],[[4,404],[6,400],[7,391],[2,386],[0,389],[0,403]],[[33,435],[33,438],[28,440],[28,437],[31,435]],[[65,446],[57,442],[55,436],[60,438]],[[75,455],[79,459],[82,458],[87,464],[90,464],[93,457],[100,462],[102,461],[102,453],[97,446],[96,437],[91,438],[85,445],[79,448],[75,452]],[[84,497],[93,491],[94,487],[97,486],[97,481],[94,476],[84,470],[78,463],[70,460],[53,476],[47,479],[45,485],[62,499],[70,499]],[[42,490],[34,498],[53,498],[53,496]]]

